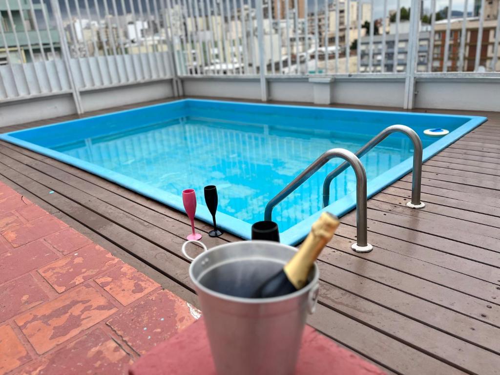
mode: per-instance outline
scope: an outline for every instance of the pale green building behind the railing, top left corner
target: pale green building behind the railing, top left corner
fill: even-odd
[[[38,61],[43,55],[49,59],[60,56],[60,38],[57,29],[55,27],[39,29],[39,38],[35,31],[35,22],[38,28],[40,24],[33,17],[33,12],[43,19],[46,9],[41,12],[42,6],[43,2],[33,4],[31,8],[28,0],[0,1],[0,65],[9,62]]]

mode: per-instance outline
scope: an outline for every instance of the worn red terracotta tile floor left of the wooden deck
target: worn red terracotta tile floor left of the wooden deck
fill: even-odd
[[[198,311],[0,182],[0,374],[126,373]]]

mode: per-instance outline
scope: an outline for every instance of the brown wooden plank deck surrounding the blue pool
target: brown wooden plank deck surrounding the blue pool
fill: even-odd
[[[405,207],[411,174],[404,176],[368,200],[373,251],[350,250],[352,211],[318,262],[309,323],[388,373],[500,373],[500,112],[461,113],[488,121],[425,162],[425,208]],[[197,305],[180,251],[185,214],[5,142],[0,179]],[[238,239],[203,236],[209,247]]]

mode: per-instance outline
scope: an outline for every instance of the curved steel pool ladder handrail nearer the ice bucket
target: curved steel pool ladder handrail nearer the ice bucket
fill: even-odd
[[[280,192],[278,192],[265,206],[264,220],[271,220],[272,209],[276,204],[287,197],[292,191],[307,180],[314,172],[333,157],[340,157],[345,160],[344,163],[352,165],[356,174],[356,227],[357,242],[351,247],[358,252],[370,251],[373,247],[367,242],[367,219],[366,219],[366,171],[359,158],[351,151],[344,148],[331,148],[314,160],[298,176],[288,183]]]

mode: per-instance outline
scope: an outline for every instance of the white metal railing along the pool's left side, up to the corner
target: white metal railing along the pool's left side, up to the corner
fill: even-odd
[[[163,0],[0,1],[0,101],[174,76]]]

